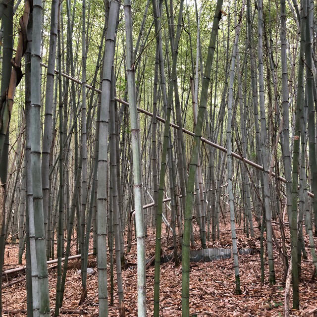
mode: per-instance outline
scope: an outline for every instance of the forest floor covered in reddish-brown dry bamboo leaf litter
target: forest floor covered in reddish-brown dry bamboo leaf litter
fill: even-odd
[[[200,248],[199,233],[195,228],[196,249]],[[229,223],[221,226],[220,240],[208,242],[209,248],[231,248],[231,233]],[[278,227],[275,226],[275,234],[280,240]],[[172,238],[166,242],[167,234],[163,227],[162,250],[172,246]],[[286,244],[289,252],[288,227]],[[147,258],[154,255],[155,235],[152,229],[148,230]],[[255,229],[255,238],[247,238],[243,230],[237,231],[238,247],[253,247],[260,250],[260,232]],[[305,237],[308,241],[308,237]],[[92,241],[91,241],[92,247]],[[313,264],[308,245],[306,246],[308,261],[302,262],[302,275],[300,281],[300,311],[291,310],[290,316],[317,316],[317,282],[312,279]],[[74,246],[73,246],[74,248]],[[283,264],[276,248],[274,248],[274,264],[276,273],[276,284],[270,286],[268,283],[268,264],[265,261],[265,283],[261,283],[260,254],[239,255],[239,268],[241,280],[241,295],[234,293],[234,269],[232,259],[219,260],[209,263],[191,263],[190,271],[190,313],[199,317],[232,317],[232,316],[284,316],[284,293],[285,284],[283,278]],[[8,244],[5,250],[4,269],[18,267],[17,264],[18,246]],[[72,250],[72,255],[75,250]],[[96,259],[89,258],[89,267],[95,270],[95,274],[88,275],[88,298],[79,305],[81,295],[81,277],[77,270],[80,268],[80,260],[69,262],[63,309],[70,312],[61,316],[98,316],[98,276]],[[136,244],[134,243],[131,252],[126,255],[129,263],[136,264]],[[23,259],[25,261],[25,259]],[[50,264],[53,266],[53,264]],[[3,276],[2,278],[2,316],[26,316],[26,290],[24,273],[14,277]],[[131,265],[122,272],[125,314],[127,317],[137,316],[137,270]],[[20,279],[19,283],[6,286],[8,283]],[[23,280],[22,280],[23,279]],[[114,273],[114,279],[115,273]],[[146,272],[147,279],[147,312],[153,316],[154,305],[154,266],[150,266]],[[49,283],[51,294],[51,308],[55,301],[56,266],[49,269]],[[182,266],[175,266],[173,262],[161,264],[160,268],[160,316],[176,317],[181,316],[181,283]],[[108,297],[109,289],[108,269]],[[114,280],[114,285],[116,285]],[[292,290],[290,294],[290,306],[292,306]],[[8,314],[5,314],[8,313]],[[53,315],[52,315],[53,316]],[[118,298],[114,289],[114,304],[109,306],[109,317],[119,316]]]

